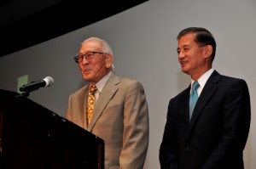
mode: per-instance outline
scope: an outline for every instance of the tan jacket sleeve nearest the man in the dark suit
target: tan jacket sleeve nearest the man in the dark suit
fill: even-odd
[[[120,168],[142,169],[148,151],[148,103],[140,82],[127,88]]]

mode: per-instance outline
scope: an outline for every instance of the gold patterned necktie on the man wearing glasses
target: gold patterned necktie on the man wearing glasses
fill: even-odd
[[[89,94],[87,99],[87,106],[86,106],[86,113],[87,113],[87,124],[90,123],[90,119],[94,110],[94,104],[95,104],[95,95],[97,88],[95,85],[91,85],[89,88]]]

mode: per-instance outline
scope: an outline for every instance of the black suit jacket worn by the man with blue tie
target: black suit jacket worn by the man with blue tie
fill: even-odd
[[[244,80],[209,77],[189,123],[190,85],[170,100],[160,144],[162,169],[241,169],[251,121]]]

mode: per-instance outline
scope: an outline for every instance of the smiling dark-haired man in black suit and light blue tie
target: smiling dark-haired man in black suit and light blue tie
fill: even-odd
[[[170,100],[160,144],[161,169],[242,169],[251,121],[247,83],[212,69],[216,42],[204,28],[177,36],[178,61],[191,85]],[[190,88],[199,83],[189,116]]]

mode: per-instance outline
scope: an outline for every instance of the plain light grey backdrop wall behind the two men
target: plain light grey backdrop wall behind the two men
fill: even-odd
[[[84,84],[73,56],[85,38],[102,37],[113,47],[115,71],[120,76],[137,79],[145,87],[150,140],[144,168],[160,168],[158,155],[168,101],[188,87],[190,81],[177,62],[177,33],[189,26],[206,27],[212,31],[218,44],[213,68],[221,74],[247,81],[252,123],[244,161],[247,169],[255,169],[255,17],[255,0],[151,0],[1,58],[0,88],[16,91],[19,76],[28,75],[29,81],[52,76],[55,79],[52,87],[40,88],[29,98],[65,116],[69,94]],[[13,42],[13,45],[19,44]]]

